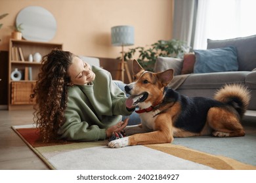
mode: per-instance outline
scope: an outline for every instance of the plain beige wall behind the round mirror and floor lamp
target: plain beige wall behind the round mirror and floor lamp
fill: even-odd
[[[135,27],[135,46],[171,39],[173,0],[0,0],[0,50],[8,50],[10,25],[22,8],[40,6],[56,18],[57,31],[51,42],[64,44],[64,50],[85,56],[116,58],[120,47],[111,46],[110,28]]]

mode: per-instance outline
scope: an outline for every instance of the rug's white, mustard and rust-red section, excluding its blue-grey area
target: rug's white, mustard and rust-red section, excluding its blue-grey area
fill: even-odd
[[[33,125],[12,129],[50,169],[59,170],[211,170],[256,169],[224,156],[207,154],[176,144],[150,144],[112,149],[108,141],[43,143]]]

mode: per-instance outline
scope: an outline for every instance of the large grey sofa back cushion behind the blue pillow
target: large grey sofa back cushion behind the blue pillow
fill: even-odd
[[[207,40],[207,49],[235,46],[238,54],[239,71],[256,68],[256,35],[225,40]]]

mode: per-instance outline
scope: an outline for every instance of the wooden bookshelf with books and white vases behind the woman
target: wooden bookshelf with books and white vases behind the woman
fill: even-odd
[[[41,62],[29,61],[29,56],[39,53],[42,57],[52,49],[62,49],[62,44],[10,39],[8,108],[9,110],[31,109],[33,91]],[[18,73],[16,73],[18,70]]]

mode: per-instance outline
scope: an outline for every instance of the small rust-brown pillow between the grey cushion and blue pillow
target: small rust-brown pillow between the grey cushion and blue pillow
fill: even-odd
[[[181,75],[193,73],[196,56],[194,53],[184,54]]]

